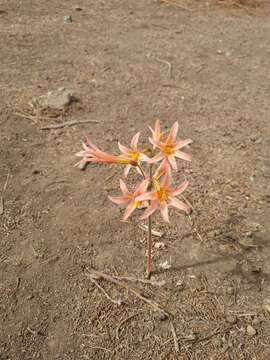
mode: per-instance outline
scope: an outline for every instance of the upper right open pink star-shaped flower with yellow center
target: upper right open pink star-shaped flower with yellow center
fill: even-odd
[[[168,161],[173,170],[177,171],[177,163],[175,158],[180,158],[183,160],[191,161],[191,156],[189,154],[180,151],[181,148],[185,147],[188,144],[192,143],[191,139],[176,141],[178,132],[178,122],[176,121],[169,135],[165,141],[159,140],[157,141],[155,137],[149,138],[149,141],[153,144],[154,147],[158,147],[160,152],[154,156],[152,159],[148,161],[149,164],[153,164],[162,160],[161,167],[164,165],[164,161]],[[156,135],[158,134],[158,129]]]

